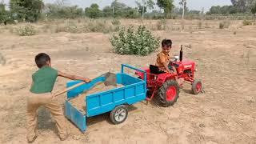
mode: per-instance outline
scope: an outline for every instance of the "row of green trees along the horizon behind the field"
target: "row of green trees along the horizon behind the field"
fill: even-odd
[[[180,0],[180,6],[174,6],[174,0],[136,0],[137,6],[130,7],[118,0],[102,10],[97,3],[82,9],[69,6],[65,0],[44,3],[42,0],[10,0],[9,10],[0,3],[0,22],[14,20],[36,22],[39,18],[172,18],[174,14],[204,14],[203,10],[189,10],[186,0]],[[212,6],[206,14],[255,14],[256,0],[231,0],[230,6]],[[158,8],[157,8],[158,7]]]

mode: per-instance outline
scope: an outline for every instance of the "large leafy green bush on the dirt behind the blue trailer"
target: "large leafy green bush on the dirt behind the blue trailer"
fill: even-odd
[[[116,54],[147,55],[158,49],[160,39],[154,38],[146,26],[138,26],[137,31],[134,26],[129,26],[127,30],[122,27],[118,34],[110,38],[110,42]]]

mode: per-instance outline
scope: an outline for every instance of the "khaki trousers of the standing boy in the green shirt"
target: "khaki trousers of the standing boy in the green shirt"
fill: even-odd
[[[58,129],[58,135],[60,138],[66,138],[67,128],[66,119],[63,115],[62,106],[56,102],[50,93],[46,94],[32,94],[27,97],[27,139],[30,141],[37,136],[36,127],[38,124],[38,108],[39,106],[45,106],[52,114],[56,126]]]

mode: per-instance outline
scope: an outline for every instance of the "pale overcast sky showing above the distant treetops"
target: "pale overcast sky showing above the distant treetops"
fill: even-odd
[[[55,2],[56,0],[43,0],[44,2]],[[109,6],[111,2],[114,0],[66,0],[68,3],[72,5],[78,5],[82,8],[90,6],[92,3],[98,3],[98,5],[102,8],[104,6]],[[135,0],[118,0],[119,2],[123,2],[128,6],[136,6]],[[156,0],[154,0],[156,1]],[[178,1],[174,0],[174,5],[178,6]],[[9,2],[9,0],[5,0],[5,2]],[[187,6],[190,10],[202,10],[204,8],[206,11],[210,9],[211,6],[224,6],[230,5],[230,0],[187,0]]]

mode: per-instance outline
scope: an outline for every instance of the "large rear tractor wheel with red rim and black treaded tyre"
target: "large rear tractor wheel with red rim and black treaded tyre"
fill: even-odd
[[[173,106],[179,94],[178,82],[169,80],[158,89],[158,98],[162,106]]]

